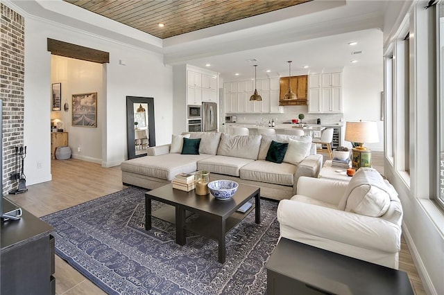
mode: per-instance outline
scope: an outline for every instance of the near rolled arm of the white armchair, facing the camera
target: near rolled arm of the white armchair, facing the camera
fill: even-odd
[[[280,201],[277,214],[281,227],[309,235],[386,253],[397,253],[401,249],[401,227],[383,218],[289,199]],[[284,238],[294,240],[292,237]]]

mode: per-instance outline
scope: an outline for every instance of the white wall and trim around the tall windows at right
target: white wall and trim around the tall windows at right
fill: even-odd
[[[432,29],[427,26],[434,23],[434,21],[429,21],[429,18],[433,16],[428,13],[433,15],[433,10],[424,9],[427,1],[418,1],[414,3],[415,5],[412,5],[411,1],[397,2],[389,1],[389,7],[386,9],[384,19],[398,19],[398,21],[392,21],[393,26],[384,27],[384,40],[388,40],[384,44],[384,52],[388,53],[388,49],[391,48],[390,42],[404,37],[404,34],[397,35],[397,33],[403,24],[410,23],[410,42],[414,44],[411,47],[414,50],[410,51],[411,64],[413,64],[412,58],[418,59],[414,66],[414,73],[411,72],[413,75],[410,77],[410,84],[414,85],[413,89],[417,89],[410,93],[414,101],[409,118],[413,122],[410,125],[410,138],[414,145],[410,147],[413,157],[410,158],[409,176],[406,177],[407,173],[396,169],[393,163],[393,161],[399,161],[396,154],[393,155],[394,159],[388,159],[387,156],[384,159],[384,173],[400,196],[404,210],[402,234],[409,245],[425,292],[444,294],[444,215],[432,200],[436,192],[431,191],[434,189],[432,185],[434,176],[430,174],[433,168],[429,167],[434,165],[431,160],[432,153],[429,150],[436,148],[433,134],[428,134],[429,127],[436,124],[433,116],[434,107],[429,107],[434,103],[433,73],[435,69],[433,62],[429,62],[429,58],[424,57],[433,54],[434,51],[434,44],[426,41],[427,34],[432,32]],[[407,17],[405,23],[404,17]],[[420,32],[418,28],[421,29]],[[424,28],[427,33],[424,33]],[[418,51],[421,51],[422,55],[418,55]],[[430,137],[423,139],[425,136]],[[394,143],[396,144],[399,143]],[[402,150],[402,145],[395,146],[395,150],[397,149]]]

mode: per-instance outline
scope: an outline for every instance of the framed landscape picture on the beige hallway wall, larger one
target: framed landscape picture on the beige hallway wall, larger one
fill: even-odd
[[[97,127],[97,92],[72,95],[72,125]]]

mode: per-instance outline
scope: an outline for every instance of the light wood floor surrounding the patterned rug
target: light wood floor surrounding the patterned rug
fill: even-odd
[[[373,163],[377,164],[377,167],[379,163],[382,166],[382,153],[379,157],[373,154]],[[34,215],[42,217],[126,188],[121,184],[120,166],[102,168],[99,164],[76,159],[53,160],[51,173],[53,181],[28,186],[28,192],[9,195],[8,199]],[[404,238],[401,244],[400,270],[409,274],[415,294],[425,294]],[[105,294],[58,256],[56,256],[55,276],[58,295]]]

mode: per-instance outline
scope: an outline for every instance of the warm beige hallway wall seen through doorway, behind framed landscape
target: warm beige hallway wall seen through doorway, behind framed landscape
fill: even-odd
[[[51,83],[62,84],[62,106],[65,102],[69,110],[51,111],[51,118],[58,117],[68,132],[68,144],[72,157],[95,163],[102,162],[102,133],[105,122],[102,107],[105,104],[103,65],[96,62],[51,55]],[[97,127],[72,126],[73,94],[97,92]],[[78,152],[80,147],[80,152]]]

